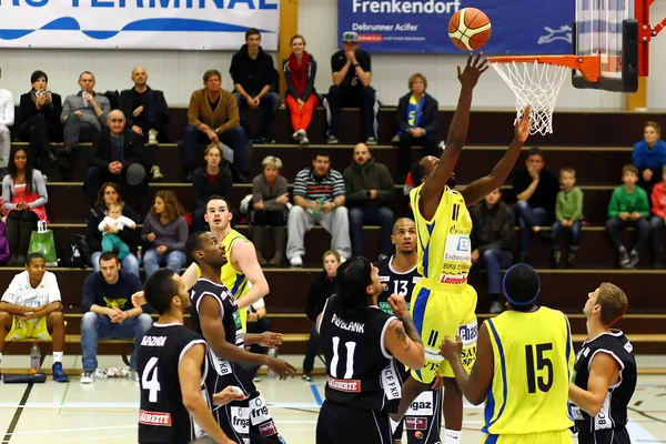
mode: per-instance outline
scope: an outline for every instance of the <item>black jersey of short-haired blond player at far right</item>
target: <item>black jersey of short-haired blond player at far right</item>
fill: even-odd
[[[633,346],[622,331],[612,330],[592,341],[585,341],[576,355],[574,383],[587,390],[589,367],[597,353],[609,354],[619,365],[619,383],[608,387],[608,394],[601,412],[592,417],[575,404],[571,404],[581,438],[591,437],[595,432],[624,427],[627,424],[627,405],[636,389],[637,371]]]

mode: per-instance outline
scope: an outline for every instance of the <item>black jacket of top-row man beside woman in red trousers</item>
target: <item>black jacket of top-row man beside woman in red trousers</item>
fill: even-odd
[[[248,44],[243,44],[231,58],[229,73],[233,83],[243,87],[250,95],[258,94],[266,84],[270,84],[273,90],[276,88],[278,71],[273,65],[273,58],[261,47],[256,59],[252,60],[248,56]]]

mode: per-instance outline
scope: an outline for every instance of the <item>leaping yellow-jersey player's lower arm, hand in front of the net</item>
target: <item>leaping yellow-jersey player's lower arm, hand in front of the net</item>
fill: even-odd
[[[493,168],[493,171],[488,175],[475,180],[463,190],[462,194],[467,205],[473,205],[481,201],[493,190],[502,186],[504,181],[506,181],[511,170],[516,164],[516,160],[518,160],[518,155],[521,155],[523,144],[529,135],[529,128],[532,127],[529,109],[529,105],[525,107],[523,118],[516,123],[514,140],[511,142],[504,157]]]

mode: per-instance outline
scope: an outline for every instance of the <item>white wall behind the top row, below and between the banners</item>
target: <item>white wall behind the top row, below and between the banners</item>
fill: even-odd
[[[656,0],[652,8],[653,22],[666,17],[666,0]],[[299,32],[307,40],[307,50],[319,62],[316,88],[326,92],[331,83],[330,58],[337,50],[337,0],[301,0],[299,2]],[[445,32],[442,38],[446,39]],[[652,44],[652,77],[648,80],[649,109],[666,109],[666,31]],[[164,90],[170,105],[186,105],[194,89],[201,88],[201,75],[209,68],[223,73],[223,85],[231,87],[228,74],[230,51],[128,51],[128,50],[37,50],[2,49],[0,88],[18,97],[30,89],[30,73],[37,69],[49,74],[49,87],[61,94],[78,90],[77,78],[83,70],[97,77],[97,90],[115,90],[131,87],[131,69],[137,64],[147,68],[150,84]],[[435,54],[374,54],[373,85],[384,104],[396,104],[407,90],[407,78],[420,71],[428,78],[428,92],[443,108],[453,108],[458,83],[455,65],[464,63],[465,56]],[[622,110],[624,95],[618,93],[576,90],[567,81],[557,100],[557,109]],[[474,107],[511,109],[513,93],[492,70],[483,75],[476,88]]]

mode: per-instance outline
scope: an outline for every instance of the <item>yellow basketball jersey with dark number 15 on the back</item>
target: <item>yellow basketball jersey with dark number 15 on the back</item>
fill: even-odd
[[[574,352],[568,320],[545,306],[514,310],[485,321],[495,361],[484,411],[491,435],[567,430]]]

